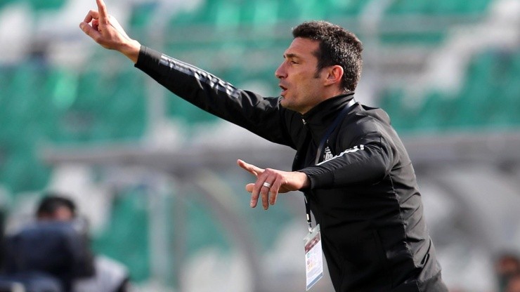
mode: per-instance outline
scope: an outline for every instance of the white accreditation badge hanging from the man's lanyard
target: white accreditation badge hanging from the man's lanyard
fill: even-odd
[[[304,238],[306,290],[323,277],[323,251],[321,249],[320,225],[316,225]]]

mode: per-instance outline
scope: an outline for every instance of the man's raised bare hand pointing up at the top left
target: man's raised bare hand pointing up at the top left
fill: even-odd
[[[96,3],[98,11],[89,11],[79,27],[103,48],[119,51],[134,63],[137,62],[141,44],[130,39],[119,22],[108,15],[103,0],[96,0]]]

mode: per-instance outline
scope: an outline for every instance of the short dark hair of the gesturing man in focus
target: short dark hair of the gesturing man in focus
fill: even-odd
[[[347,91],[356,89],[363,67],[363,44],[356,34],[330,22],[308,21],[292,29],[292,36],[319,41],[319,51],[315,52],[318,58],[317,72],[328,66],[339,65],[344,70],[342,87]]]

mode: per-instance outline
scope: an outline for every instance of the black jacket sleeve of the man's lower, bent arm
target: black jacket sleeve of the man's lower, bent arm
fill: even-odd
[[[377,183],[391,171],[394,154],[381,133],[365,133],[356,140],[346,136],[340,134],[339,154],[300,170],[311,180],[311,189]]]

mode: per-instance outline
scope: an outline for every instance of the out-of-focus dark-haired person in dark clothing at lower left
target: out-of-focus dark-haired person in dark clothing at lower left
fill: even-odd
[[[86,226],[72,219],[76,208],[61,197],[44,197],[36,220],[4,240],[1,279],[29,292],[72,291],[73,282],[93,276]]]

